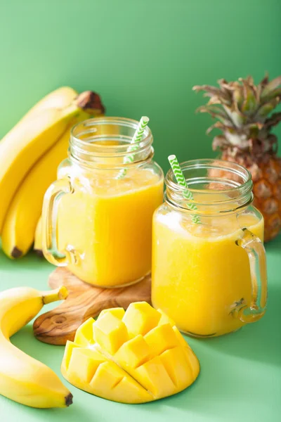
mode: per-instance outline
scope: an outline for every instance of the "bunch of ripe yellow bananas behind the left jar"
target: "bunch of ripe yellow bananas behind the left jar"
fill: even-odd
[[[0,236],[8,257],[25,255],[35,231],[36,248],[41,250],[44,193],[67,158],[70,129],[81,120],[103,115],[104,110],[92,91],[78,95],[62,87],[39,101],[0,141]]]

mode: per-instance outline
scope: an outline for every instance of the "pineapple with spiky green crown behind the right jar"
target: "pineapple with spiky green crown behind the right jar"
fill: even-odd
[[[255,85],[251,76],[235,82],[218,80],[219,87],[202,85],[210,97],[198,109],[218,121],[207,130],[220,129],[213,149],[221,159],[235,161],[251,172],[254,182],[254,205],[265,220],[265,241],[281,229],[281,158],[277,158],[277,138],[271,129],[281,122],[281,112],[271,113],[281,101],[281,76],[269,82],[268,76]]]

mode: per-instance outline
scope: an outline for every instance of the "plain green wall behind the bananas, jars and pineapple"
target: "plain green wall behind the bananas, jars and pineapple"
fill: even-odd
[[[281,74],[280,0],[1,0],[0,136],[56,87],[150,117],[156,159],[207,158],[195,84]],[[278,129],[281,137],[281,127]]]

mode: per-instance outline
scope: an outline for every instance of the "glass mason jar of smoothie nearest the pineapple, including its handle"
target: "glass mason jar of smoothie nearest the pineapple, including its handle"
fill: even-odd
[[[189,335],[230,333],[266,309],[263,217],[252,205],[251,174],[221,160],[181,169],[193,199],[186,202],[169,170],[153,218],[152,304]]]

